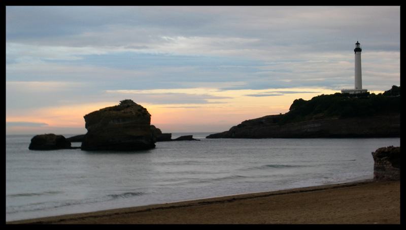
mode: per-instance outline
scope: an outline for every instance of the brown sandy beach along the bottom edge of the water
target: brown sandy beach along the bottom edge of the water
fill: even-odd
[[[400,181],[365,180],[6,224],[400,224]]]

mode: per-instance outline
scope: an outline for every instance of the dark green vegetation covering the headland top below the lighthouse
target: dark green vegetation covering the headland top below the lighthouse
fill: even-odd
[[[383,94],[335,93],[319,95],[311,100],[296,99],[278,122],[280,125],[329,118],[368,117],[380,114],[400,113],[400,86]]]

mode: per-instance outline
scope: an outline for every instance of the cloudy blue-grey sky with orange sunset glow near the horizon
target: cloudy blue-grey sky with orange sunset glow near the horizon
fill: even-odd
[[[84,134],[131,99],[164,133],[400,86],[400,6],[6,6],[6,134]]]

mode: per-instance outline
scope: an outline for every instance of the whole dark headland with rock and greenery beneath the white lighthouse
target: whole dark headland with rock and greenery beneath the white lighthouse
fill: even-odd
[[[320,95],[206,138],[400,137],[400,96]]]

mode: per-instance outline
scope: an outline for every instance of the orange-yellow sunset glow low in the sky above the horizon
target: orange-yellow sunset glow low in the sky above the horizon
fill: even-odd
[[[295,93],[283,94],[284,89],[277,89],[274,94],[269,91],[241,90],[241,92],[215,91],[210,89],[186,89],[174,90],[173,92],[184,92],[185,97],[192,96],[193,90],[197,94],[214,92],[213,96],[219,99],[208,104],[159,104],[136,102],[147,108],[151,114],[151,125],[155,125],[163,132],[220,132],[238,125],[249,119],[255,119],[267,115],[286,113],[293,100],[302,98],[310,100],[312,97],[321,94],[333,94],[336,91],[319,89],[296,89]],[[137,98],[137,94],[166,93],[166,90],[125,92],[123,99]],[[188,93],[186,93],[188,92]],[[303,92],[303,93],[300,93]],[[110,92],[111,93],[111,92]],[[239,94],[238,94],[239,93]],[[272,96],[247,96],[250,94],[272,95]],[[279,95],[278,95],[279,94]],[[272,98],[273,100],[271,100]],[[131,99],[134,100],[134,99]],[[38,127],[30,127],[28,133],[41,133],[56,130],[58,128],[72,130],[73,133],[86,133],[84,116],[92,111],[119,104],[118,102],[99,102],[96,104],[78,104],[67,106],[45,107],[32,111],[33,117],[13,116],[6,119],[6,122],[19,123],[29,121],[36,124],[43,124]],[[41,119],[38,119],[41,118]],[[19,133],[24,129],[21,126],[8,127],[10,133]],[[33,133],[32,133],[33,132]]]

